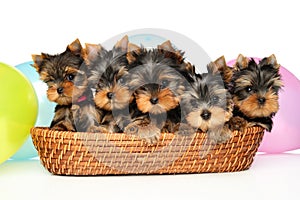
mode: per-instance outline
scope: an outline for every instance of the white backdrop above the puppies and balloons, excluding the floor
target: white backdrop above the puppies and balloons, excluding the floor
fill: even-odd
[[[59,53],[75,38],[101,43],[140,28],[179,32],[212,59],[274,53],[300,77],[297,1],[1,1],[0,60],[16,65],[31,54]]]

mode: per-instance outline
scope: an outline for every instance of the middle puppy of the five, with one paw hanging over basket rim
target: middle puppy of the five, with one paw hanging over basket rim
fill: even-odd
[[[155,49],[141,47],[128,52],[128,85],[134,91],[137,110],[125,133],[153,144],[161,132],[174,131],[181,120],[179,105],[188,76],[185,72],[194,70],[182,56],[169,41]]]

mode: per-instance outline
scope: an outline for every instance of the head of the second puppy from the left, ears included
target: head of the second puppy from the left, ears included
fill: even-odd
[[[125,36],[112,50],[97,48],[94,51],[98,51],[96,56],[86,56],[92,58],[88,60],[91,69],[89,82],[96,89],[94,101],[100,109],[120,110],[127,107],[132,100],[132,94],[126,85],[128,46],[128,37]]]

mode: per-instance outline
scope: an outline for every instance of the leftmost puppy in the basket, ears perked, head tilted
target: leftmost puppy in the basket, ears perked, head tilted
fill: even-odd
[[[82,46],[76,39],[61,54],[32,55],[32,66],[48,85],[48,99],[57,103],[51,129],[76,131],[71,106],[74,99],[82,96],[87,86],[86,75],[80,69],[83,62],[81,53]],[[81,86],[74,84],[75,77],[82,79]]]

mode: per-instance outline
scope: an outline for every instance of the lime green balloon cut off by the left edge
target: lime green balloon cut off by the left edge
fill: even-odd
[[[34,126],[38,100],[30,81],[0,63],[0,164],[23,145]]]

